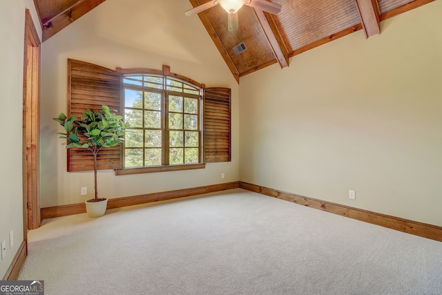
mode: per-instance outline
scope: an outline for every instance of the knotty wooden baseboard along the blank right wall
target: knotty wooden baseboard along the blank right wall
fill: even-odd
[[[385,214],[366,211],[363,209],[347,207],[332,202],[324,202],[322,200],[317,200],[314,198],[299,196],[294,193],[286,193],[284,191],[278,191],[276,189],[269,189],[268,187],[260,187],[259,185],[250,184],[247,182],[240,182],[240,188],[254,191],[256,193],[262,193],[263,195],[271,196],[273,198],[287,200],[296,204],[302,204],[307,207],[335,213],[340,216],[346,216],[348,218],[372,223],[373,225],[380,225],[389,229],[395,229],[396,231],[403,231],[407,234],[413,234],[415,236],[421,236],[423,238],[430,238],[432,240],[438,240],[439,242],[442,242],[442,227],[438,227],[436,225],[428,225],[422,222],[416,222],[413,220],[388,216]]]

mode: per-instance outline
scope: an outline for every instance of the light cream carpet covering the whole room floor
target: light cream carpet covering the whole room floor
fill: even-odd
[[[44,220],[51,294],[442,294],[442,242],[233,189]]]

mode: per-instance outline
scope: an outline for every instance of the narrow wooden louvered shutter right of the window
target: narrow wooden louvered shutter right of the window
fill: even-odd
[[[231,161],[231,89],[204,88],[204,162]]]

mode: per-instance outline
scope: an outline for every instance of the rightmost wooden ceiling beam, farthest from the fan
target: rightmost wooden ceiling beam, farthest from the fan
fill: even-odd
[[[381,34],[381,21],[379,18],[379,6],[377,0],[355,0],[361,23],[365,32],[365,38]]]

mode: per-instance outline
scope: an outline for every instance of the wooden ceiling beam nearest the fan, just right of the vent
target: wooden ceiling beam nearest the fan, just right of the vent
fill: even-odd
[[[253,8],[253,11],[255,11],[255,15],[267,37],[267,40],[269,41],[273,54],[275,55],[276,59],[278,59],[278,63],[280,64],[281,68],[289,66],[289,52],[284,44],[284,41],[282,40],[273,17],[269,13],[263,12],[259,9]]]

